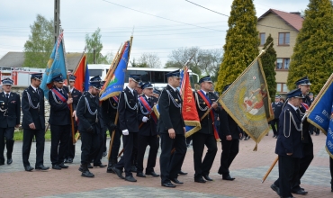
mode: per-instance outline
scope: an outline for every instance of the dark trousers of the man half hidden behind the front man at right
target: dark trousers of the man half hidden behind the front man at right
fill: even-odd
[[[313,143],[302,143],[303,157],[300,159],[300,170],[296,176],[295,182],[292,184],[293,190],[299,190],[301,184],[301,178],[305,174],[305,171],[311,164],[313,159]]]

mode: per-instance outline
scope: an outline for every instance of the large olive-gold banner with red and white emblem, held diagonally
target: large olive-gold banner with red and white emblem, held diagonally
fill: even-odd
[[[271,99],[259,58],[238,76],[219,102],[256,143],[263,139],[270,130],[268,121],[274,119],[274,113],[270,109]]]

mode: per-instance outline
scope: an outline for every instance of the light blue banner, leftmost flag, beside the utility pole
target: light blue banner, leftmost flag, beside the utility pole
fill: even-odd
[[[52,53],[49,57],[48,65],[43,74],[40,88],[44,91],[45,98],[49,99],[49,89],[52,87],[52,78],[61,74],[64,79],[67,78],[65,53],[63,49],[63,32],[58,36],[57,42],[54,44]]]

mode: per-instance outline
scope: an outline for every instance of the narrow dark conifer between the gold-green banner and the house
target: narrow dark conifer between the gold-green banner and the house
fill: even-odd
[[[266,53],[264,55],[261,56],[261,63],[264,69],[264,73],[266,76],[266,82],[268,85],[268,90],[269,90],[269,95],[271,96],[271,98],[275,98],[275,94],[276,94],[276,81],[275,81],[275,61],[276,61],[276,51],[273,48],[274,43],[273,43],[273,38],[271,36],[271,34],[269,34],[266,43],[264,44],[264,48],[266,49]],[[269,48],[267,49],[267,45],[269,45],[269,43],[272,44],[269,46]]]

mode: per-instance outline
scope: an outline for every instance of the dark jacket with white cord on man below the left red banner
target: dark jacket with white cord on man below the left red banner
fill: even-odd
[[[99,110],[99,105],[97,103],[96,97],[94,97],[89,92],[84,92],[80,97],[80,99],[78,100],[76,106],[78,130],[80,132],[92,129],[94,128],[94,126],[98,127],[99,129],[103,128],[103,125],[101,125],[102,113],[101,111],[98,110]],[[96,112],[96,114],[94,114],[94,112]],[[97,132],[99,132],[99,130],[97,130]]]

